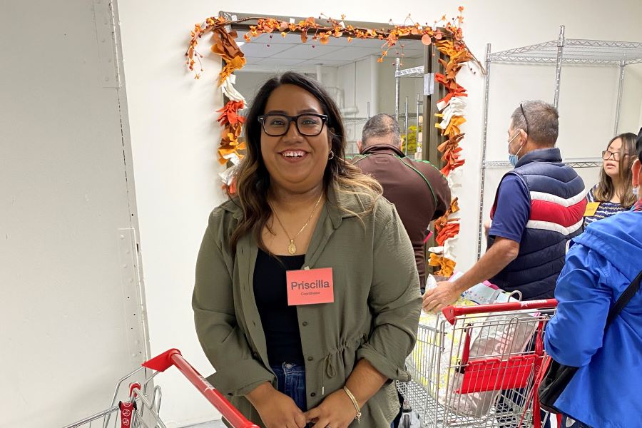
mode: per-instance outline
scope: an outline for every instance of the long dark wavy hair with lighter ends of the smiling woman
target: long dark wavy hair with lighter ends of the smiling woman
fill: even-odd
[[[334,158],[327,161],[323,175],[323,187],[327,193],[332,187],[337,192],[355,193],[372,203],[369,208],[359,215],[370,213],[374,209],[374,200],[382,194],[382,188],[376,180],[365,175],[352,163],[345,161],[345,128],[341,113],[335,101],[325,89],[312,78],[300,73],[289,71],[280,76],[270,78],[256,94],[248,115],[245,116],[245,140],[248,148],[245,158],[235,172],[237,193],[233,196],[243,210],[243,218],[233,232],[230,248],[236,250],[238,240],[252,231],[260,248],[265,249],[262,230],[272,216],[272,208],[268,202],[270,190],[270,174],[267,172],[261,154],[261,133],[263,131],[258,117],[265,113],[267,99],[272,92],[282,85],[298,86],[315,96],[319,101],[322,113],[327,115],[327,133],[330,136],[330,149]]]

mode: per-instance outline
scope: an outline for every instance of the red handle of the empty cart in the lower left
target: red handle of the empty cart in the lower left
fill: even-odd
[[[190,365],[180,351],[176,349],[167,350],[161,355],[153,357],[151,360],[143,362],[143,367],[158,372],[164,372],[169,367],[175,366],[190,382],[208,399],[220,414],[227,419],[234,428],[259,428],[258,425],[248,421],[238,409],[236,409],[223,394],[218,392],[214,387],[205,380],[194,367]]]

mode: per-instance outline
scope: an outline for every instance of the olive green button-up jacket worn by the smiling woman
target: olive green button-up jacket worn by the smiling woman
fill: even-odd
[[[363,210],[357,195],[331,189],[305,255],[302,268],[332,267],[335,293],[334,303],[297,307],[307,407],[342,388],[365,358],[391,381],[362,406],[360,427],[389,427],[399,409],[392,380],[410,379],[404,360],[414,346],[422,300],[412,245],[394,205],[379,198],[372,213],[359,218],[355,213]],[[253,291],[257,243],[245,235],[230,253],[242,215],[234,201],[210,214],[192,306],[200,345],[216,370],[208,380],[260,424],[244,395],[263,382],[277,385]]]

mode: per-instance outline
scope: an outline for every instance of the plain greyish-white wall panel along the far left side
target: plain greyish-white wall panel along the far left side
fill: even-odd
[[[110,23],[107,2],[2,4],[0,427],[107,409],[145,360]]]

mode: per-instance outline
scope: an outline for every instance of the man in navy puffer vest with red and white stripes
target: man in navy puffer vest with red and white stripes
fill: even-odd
[[[586,210],[584,182],[555,147],[558,117],[544,101],[515,109],[508,129],[514,169],[497,189],[486,254],[459,279],[427,290],[424,310],[441,310],[488,279],[503,290],[519,290],[524,300],[553,297],[566,243],[581,233]]]

